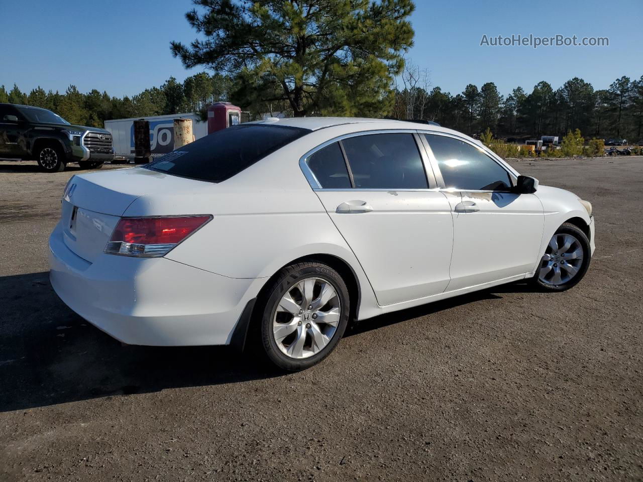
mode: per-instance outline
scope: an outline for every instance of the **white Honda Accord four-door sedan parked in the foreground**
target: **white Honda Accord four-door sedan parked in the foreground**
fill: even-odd
[[[350,320],[516,280],[574,286],[594,221],[454,130],[271,119],[75,175],[49,245],[62,301],[123,343],[252,346],[302,370]]]

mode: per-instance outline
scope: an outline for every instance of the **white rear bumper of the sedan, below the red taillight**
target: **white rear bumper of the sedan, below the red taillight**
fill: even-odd
[[[230,343],[261,279],[227,278],[165,258],[102,254],[89,263],[49,240],[51,286],[78,315],[127,344]]]

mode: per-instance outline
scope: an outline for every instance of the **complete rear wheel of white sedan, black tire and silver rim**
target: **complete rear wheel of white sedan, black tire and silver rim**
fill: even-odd
[[[261,298],[260,343],[281,370],[305,370],[323,360],[349,321],[346,283],[324,263],[284,267]]]

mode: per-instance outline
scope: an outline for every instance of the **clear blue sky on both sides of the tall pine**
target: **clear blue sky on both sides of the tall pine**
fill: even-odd
[[[431,85],[452,94],[494,82],[502,94],[540,80],[554,88],[573,76],[606,88],[622,75],[643,75],[643,2],[415,0],[415,46],[408,57],[429,69]],[[0,84],[23,91],[132,95],[201,71],[172,57],[170,40],[190,42],[183,16],[190,0],[0,0]],[[608,47],[480,46],[482,35],[609,37]]]

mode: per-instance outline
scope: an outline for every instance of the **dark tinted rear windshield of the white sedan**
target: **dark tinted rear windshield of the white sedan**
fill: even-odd
[[[146,167],[220,183],[309,132],[277,125],[235,125],[180,147]]]

